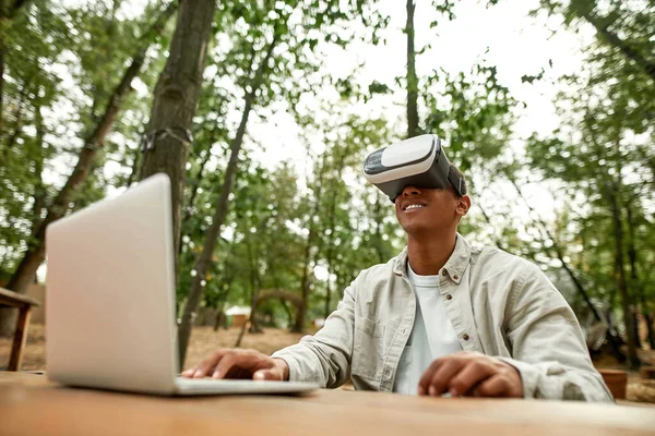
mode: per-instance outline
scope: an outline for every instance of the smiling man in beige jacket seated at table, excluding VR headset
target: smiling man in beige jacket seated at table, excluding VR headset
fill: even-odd
[[[394,204],[407,247],[364,270],[314,336],[272,356],[218,350],[182,375],[329,388],[350,376],[356,389],[410,395],[611,401],[541,270],[457,233],[471,208],[463,186],[403,189]]]

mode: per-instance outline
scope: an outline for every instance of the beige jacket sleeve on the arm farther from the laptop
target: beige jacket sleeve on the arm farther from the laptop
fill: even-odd
[[[500,359],[521,373],[525,398],[612,401],[577,318],[534,264],[509,295],[504,328],[512,359]]]

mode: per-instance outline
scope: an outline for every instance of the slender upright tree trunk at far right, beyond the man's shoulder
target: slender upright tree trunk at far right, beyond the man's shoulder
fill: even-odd
[[[633,316],[628,293],[628,281],[626,279],[626,267],[623,261],[623,228],[621,222],[621,213],[617,199],[618,189],[616,182],[607,184],[607,194],[611,207],[612,227],[616,242],[615,252],[615,275],[617,284],[621,294],[621,310],[623,312],[623,322],[626,323],[626,336],[628,338],[628,359],[632,368],[639,367],[639,356],[636,355],[636,339],[634,336]]]

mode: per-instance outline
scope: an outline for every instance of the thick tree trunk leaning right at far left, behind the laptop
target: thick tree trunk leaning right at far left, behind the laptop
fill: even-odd
[[[175,7],[170,5],[158,17],[155,25],[151,27],[148,34],[153,32],[160,32],[166,24],[166,20],[172,14],[174,11]],[[141,68],[143,66],[145,52],[150,48],[151,40],[152,38],[148,38],[148,43],[139,48],[132,58],[130,66],[128,66],[123,76],[121,77],[120,83],[114,89],[103,117],[98,121],[93,132],[84,141],[84,146],[80,152],[78,164],[75,165],[73,172],[52,201],[50,207],[48,207],[46,218],[44,218],[29,238],[29,242],[27,243],[27,252],[21,259],[21,263],[7,284],[8,289],[19,293],[25,293],[29,283],[34,281],[36,270],[44,262],[46,255],[46,228],[66,214],[66,211],[69,209],[69,204],[74,199],[73,197],[75,191],[78,191],[80,185],[86,180],[93,159],[95,158],[98,149],[103,147],[105,137],[111,131],[124,98],[132,90],[130,84],[134,77],[136,77],[141,71]],[[13,318],[9,318],[12,317],[7,317],[4,313],[0,312],[0,336],[9,335],[13,330]]]

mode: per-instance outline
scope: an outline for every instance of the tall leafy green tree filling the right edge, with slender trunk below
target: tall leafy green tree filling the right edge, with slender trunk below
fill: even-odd
[[[653,14],[651,7],[634,8],[628,2],[543,1],[541,5],[548,13],[562,14],[572,27],[591,23],[597,40],[586,50],[584,74],[567,78],[575,90],[560,96],[568,105],[560,109],[568,122],[550,140],[533,138],[528,150],[533,165],[547,177],[564,181],[588,198],[588,210],[579,220],[579,226],[590,229],[584,258],[593,262],[597,282],[609,286],[604,298],[610,313],[615,295],[620,296],[619,314],[630,364],[635,367],[638,302],[644,303],[645,318],[651,311],[641,298],[645,282],[640,280],[639,258],[650,257],[652,249],[638,249],[630,229],[635,214],[645,222],[653,219],[642,206],[653,198],[652,189],[645,187],[653,184],[648,168],[653,152],[647,142],[655,135],[648,122],[655,109],[655,86],[646,57],[653,51],[648,39]],[[585,222],[592,220],[593,225]]]

